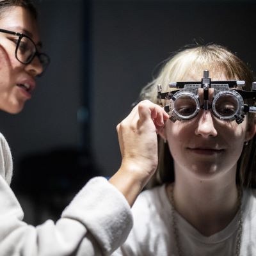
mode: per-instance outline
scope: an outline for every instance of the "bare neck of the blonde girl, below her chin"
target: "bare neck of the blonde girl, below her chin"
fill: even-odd
[[[228,173],[228,179],[222,175],[220,179],[209,180],[175,173],[172,189],[175,209],[204,236],[220,232],[236,216],[239,204],[236,170]],[[166,188],[170,198],[171,188]]]

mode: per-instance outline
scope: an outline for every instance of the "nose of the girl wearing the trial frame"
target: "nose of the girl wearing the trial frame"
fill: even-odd
[[[209,110],[203,111],[203,113],[200,115],[195,129],[195,134],[204,138],[208,138],[209,136],[217,136],[218,132],[214,127],[212,114]]]

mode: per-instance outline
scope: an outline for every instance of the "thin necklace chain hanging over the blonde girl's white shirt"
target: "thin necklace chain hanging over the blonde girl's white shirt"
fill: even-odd
[[[182,247],[180,245],[180,237],[179,237],[179,232],[177,228],[177,218],[176,218],[176,212],[175,212],[175,200],[173,196],[173,184],[170,185],[170,189],[167,189],[169,192],[169,198],[172,203],[172,229],[173,229],[173,234],[175,237],[175,243],[177,247],[177,252],[178,256],[183,256],[182,252]],[[238,191],[238,196],[237,196],[237,211],[239,215],[239,220],[238,220],[238,230],[237,230],[237,237],[236,237],[236,256],[240,255],[240,248],[241,248],[241,237],[242,237],[242,232],[243,232],[243,211],[242,211],[242,197],[243,197],[243,191],[242,189],[237,189]]]

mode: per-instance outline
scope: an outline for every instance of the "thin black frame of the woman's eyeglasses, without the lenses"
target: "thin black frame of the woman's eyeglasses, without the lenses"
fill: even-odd
[[[10,30],[1,29],[1,28],[0,28],[0,32],[6,33],[6,34],[10,34],[10,35],[19,36],[19,39],[18,39],[18,41],[17,41],[17,43],[16,43],[15,58],[16,58],[20,63],[22,63],[22,64],[24,64],[24,65],[28,65],[28,64],[30,64],[30,63],[34,60],[34,58],[35,58],[36,56],[38,56],[39,61],[40,61],[40,56],[45,56],[45,57],[47,58],[47,60],[48,60],[48,63],[47,63],[47,65],[46,65],[46,67],[49,65],[49,63],[50,63],[50,58],[49,58],[49,56],[48,56],[47,54],[45,54],[44,52],[39,52],[38,49],[37,49],[37,47],[36,47],[35,42],[34,42],[29,36],[27,36],[27,35],[24,34],[24,33],[15,32],[15,31],[10,31]],[[18,49],[19,49],[20,41],[21,41],[21,39],[22,39],[23,37],[28,38],[28,39],[32,42],[32,44],[35,45],[35,49],[36,49],[35,53],[33,54],[33,57],[30,58],[30,60],[29,60],[29,61],[26,61],[26,62],[19,60],[19,58],[17,57],[17,51],[18,51]],[[41,61],[40,61],[40,63],[42,64]],[[46,67],[44,67],[44,70],[46,69]]]

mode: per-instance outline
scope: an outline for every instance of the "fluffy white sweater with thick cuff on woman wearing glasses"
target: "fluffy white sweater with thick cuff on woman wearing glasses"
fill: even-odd
[[[67,256],[110,255],[132,227],[129,204],[103,177],[90,180],[54,223],[33,227],[22,221],[15,197],[12,155],[0,134],[0,255]]]

